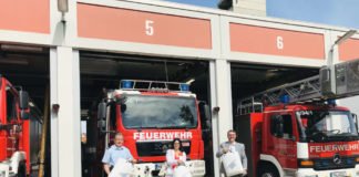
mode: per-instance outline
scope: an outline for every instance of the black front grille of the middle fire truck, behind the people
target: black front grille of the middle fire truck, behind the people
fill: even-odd
[[[183,149],[187,155],[191,153],[191,140],[182,140]],[[139,156],[164,156],[167,149],[173,148],[172,142],[137,142]]]

